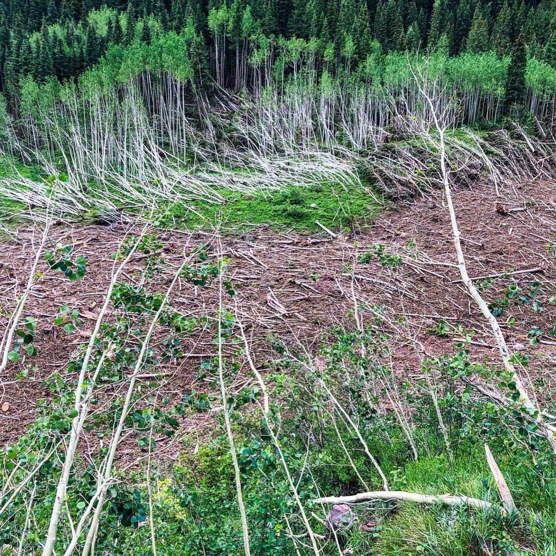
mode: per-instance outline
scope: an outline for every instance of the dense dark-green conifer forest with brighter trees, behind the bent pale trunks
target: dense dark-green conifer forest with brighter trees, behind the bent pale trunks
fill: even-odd
[[[165,63],[198,87],[214,80],[235,91],[307,67],[319,78],[387,80],[405,52],[420,51],[456,57],[451,80],[502,98],[507,113],[526,96],[553,94],[554,13],[549,2],[525,1],[11,0],[0,6],[0,90],[16,114],[29,82],[76,82],[103,57],[117,72],[123,49],[157,62],[175,56]],[[172,37],[180,50],[161,56]]]

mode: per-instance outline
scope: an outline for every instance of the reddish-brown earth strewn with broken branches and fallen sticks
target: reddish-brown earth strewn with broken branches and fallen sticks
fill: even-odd
[[[528,353],[529,374],[533,381],[543,379],[542,394],[549,399],[556,388],[556,337],[548,331],[556,326],[556,304],[549,297],[556,294],[556,259],[548,244],[556,243],[556,189],[550,183],[527,183],[507,188],[497,197],[493,187],[476,185],[454,195],[461,237],[473,277],[502,275],[525,271],[509,277],[495,277],[489,289],[483,291],[488,302],[505,299],[510,284],[517,284],[528,302],[510,301],[499,317],[510,348]],[[324,333],[341,325],[353,329],[354,307],[363,325],[374,317],[372,311],[361,307],[384,305],[385,323],[394,346],[396,374],[409,378],[420,373],[419,354],[411,339],[418,340],[430,354],[453,354],[458,351],[457,338],[461,325],[465,331],[475,331],[471,342],[471,358],[497,362],[497,349],[492,334],[473,301],[459,281],[454,265],[455,255],[449,215],[443,198],[422,198],[410,205],[390,211],[373,225],[350,237],[308,237],[269,226],[246,226],[243,235],[220,238],[222,254],[230,262],[226,277],[236,285],[237,295],[226,296],[227,309],[241,319],[249,337],[250,349],[258,368],[264,368],[273,355],[270,338],[284,341],[292,349],[299,345],[316,353]],[[24,316],[38,320],[37,337],[33,342],[38,354],[9,364],[1,377],[0,440],[12,443],[36,419],[38,400],[52,396],[49,388],[53,374],[67,381],[67,361],[87,343],[87,331],[92,330],[98,307],[111,280],[115,266],[111,254],[126,233],[137,234],[140,224],[124,227],[58,224],[51,230],[48,244],[73,245],[76,255],[87,260],[85,277],[69,282],[61,272],[48,270],[44,261],[39,265],[39,277],[28,298]],[[161,273],[142,282],[146,260],[134,257],[122,275],[122,281],[142,284],[148,291],[165,291],[184,257],[206,245],[209,260],[219,255],[219,240],[205,232],[154,231],[163,243],[160,253]],[[22,228],[12,240],[0,243],[0,327],[6,324],[6,314],[24,289],[32,264],[38,232]],[[398,268],[382,266],[376,257],[361,264],[358,256],[382,244],[386,254],[399,255],[403,264]],[[349,267],[353,267],[352,280]],[[528,272],[531,269],[534,272]],[[533,310],[531,286],[540,282],[539,301],[542,310]],[[353,287],[352,287],[353,285]],[[172,292],[170,304],[188,317],[203,315],[212,318],[218,308],[218,287],[215,284],[193,287],[180,281]],[[53,324],[59,307],[69,305],[80,311],[78,331],[67,335]],[[400,319],[406,317],[409,331]],[[511,320],[515,324],[510,326]],[[110,321],[111,315],[106,317]],[[450,325],[446,337],[431,331],[440,324]],[[537,345],[529,345],[528,332],[534,327],[544,331]],[[81,333],[81,335],[80,335]],[[192,389],[210,389],[209,381],[198,380],[202,361],[216,353],[215,328],[196,332],[181,347],[184,357],[173,358],[148,371],[160,373],[155,388],[157,399],[166,395],[176,398]],[[163,331],[153,340],[155,351],[160,349]],[[519,345],[522,344],[522,345]],[[238,346],[227,346],[230,357]],[[526,352],[525,352],[526,350]],[[239,363],[231,391],[240,390],[254,381],[245,356],[234,356]],[[21,376],[27,369],[27,375]],[[151,378],[152,379],[152,378]],[[151,380],[148,376],[146,383]],[[210,379],[210,377],[209,377]],[[104,387],[105,393],[122,394],[125,381]],[[217,393],[217,388],[212,387]],[[196,416],[190,428],[200,428],[209,416]],[[162,443],[163,444],[163,443]],[[168,442],[175,451],[179,442]],[[129,448],[130,452],[132,451]],[[126,449],[124,451],[127,451]]]

